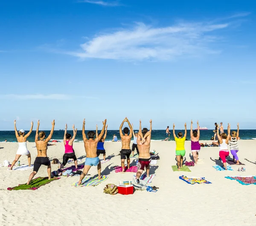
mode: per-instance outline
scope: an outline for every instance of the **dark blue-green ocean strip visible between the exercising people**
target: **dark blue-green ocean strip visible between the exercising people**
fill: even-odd
[[[45,132],[47,136],[50,133],[49,130],[48,131],[46,130]],[[68,130],[67,132],[73,135],[73,130]],[[86,134],[87,132],[88,131],[85,131]],[[170,132],[171,134],[170,134],[169,140],[174,140],[174,137],[172,135],[172,130]],[[176,132],[176,135],[178,132],[183,132],[184,134],[184,130],[177,129],[175,130],[175,132]],[[227,131],[224,130],[224,132],[227,132]],[[113,134],[116,134],[118,140],[120,140],[119,130],[108,130],[106,141],[111,141],[113,139]],[[213,135],[214,133],[212,132],[211,129],[200,130],[200,140],[210,140]],[[63,137],[64,137],[64,131],[56,130],[52,135],[52,140],[63,141]],[[252,140],[252,139],[256,140],[256,129],[240,129],[239,137],[241,138],[241,140]],[[165,130],[152,130],[151,140],[164,140],[165,138],[166,138]],[[190,140],[190,130],[188,130],[188,134],[186,138]],[[0,142],[3,142],[6,139],[7,139],[7,142],[17,142],[14,131],[0,131]],[[29,142],[35,141],[35,131],[32,131],[32,133],[30,134],[27,140]],[[82,141],[83,141],[82,131],[78,130],[75,142],[82,142]]]

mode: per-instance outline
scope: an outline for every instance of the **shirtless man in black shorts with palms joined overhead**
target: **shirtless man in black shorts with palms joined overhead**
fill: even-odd
[[[128,132],[129,132],[128,127],[125,127],[123,129],[124,134],[122,133],[122,126],[124,125],[125,122],[127,122],[130,127],[129,135],[128,135]],[[128,169],[130,168],[130,154],[131,154],[130,143],[131,143],[131,137],[132,137],[132,127],[127,117],[122,121],[121,126],[119,128],[119,133],[122,141],[122,149],[120,151],[121,166],[122,166],[122,172],[125,172],[125,158],[127,158]]]

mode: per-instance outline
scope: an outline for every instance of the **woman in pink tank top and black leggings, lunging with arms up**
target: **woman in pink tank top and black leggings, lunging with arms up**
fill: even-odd
[[[67,133],[67,124],[66,124],[64,138],[63,138],[65,154],[63,155],[63,162],[59,166],[59,169],[62,169],[64,166],[66,166],[67,161],[70,158],[74,160],[74,163],[77,169],[77,158],[73,149],[73,142],[76,138],[77,129],[75,130],[75,125],[73,125],[72,128],[73,128],[73,137],[71,138],[71,134]]]

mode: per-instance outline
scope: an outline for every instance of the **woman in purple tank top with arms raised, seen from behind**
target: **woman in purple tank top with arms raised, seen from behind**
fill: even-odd
[[[191,129],[190,129],[190,137],[191,137],[191,152],[194,158],[195,164],[198,162],[198,153],[200,152],[201,145],[199,143],[200,138],[200,129],[199,123],[197,121],[197,130],[193,130],[193,121],[191,120]]]

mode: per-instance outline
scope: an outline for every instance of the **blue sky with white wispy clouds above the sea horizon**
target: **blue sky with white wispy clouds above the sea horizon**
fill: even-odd
[[[125,117],[256,129],[253,1],[0,2],[0,130]]]

